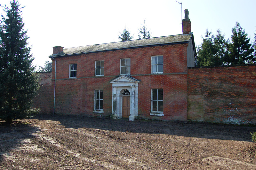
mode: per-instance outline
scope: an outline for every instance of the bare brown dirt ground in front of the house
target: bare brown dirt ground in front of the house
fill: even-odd
[[[255,127],[37,115],[0,124],[0,169],[256,169]]]

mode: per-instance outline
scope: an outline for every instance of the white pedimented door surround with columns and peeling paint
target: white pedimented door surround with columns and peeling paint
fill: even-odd
[[[131,110],[129,120],[134,120],[138,116],[138,85],[139,80],[132,77],[121,75],[112,83],[112,119],[122,118],[122,92],[127,89],[130,91],[131,96]]]

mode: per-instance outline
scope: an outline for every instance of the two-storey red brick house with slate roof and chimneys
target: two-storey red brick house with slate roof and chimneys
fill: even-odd
[[[187,120],[194,35],[188,10],[180,35],[53,47],[53,112],[113,119]]]

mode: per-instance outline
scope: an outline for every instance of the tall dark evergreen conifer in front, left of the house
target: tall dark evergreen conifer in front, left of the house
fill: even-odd
[[[18,0],[12,0],[10,7],[5,5],[4,12],[0,25],[0,119],[11,123],[36,112],[31,99],[36,95],[38,78]]]

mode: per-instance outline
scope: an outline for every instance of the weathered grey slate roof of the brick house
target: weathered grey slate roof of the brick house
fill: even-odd
[[[173,44],[173,43],[188,43],[191,37],[193,37],[193,33],[186,34],[186,35],[182,35],[182,34],[170,35],[170,36],[146,38],[146,39],[139,39],[139,40],[87,45],[87,46],[81,46],[81,47],[66,48],[66,49],[63,49],[63,52],[50,55],[49,57],[62,57],[62,56],[64,57],[67,55],[75,55],[75,54],[82,54],[82,53],[123,50],[123,49],[140,48],[140,47],[147,47],[147,46],[166,45],[166,44]]]

